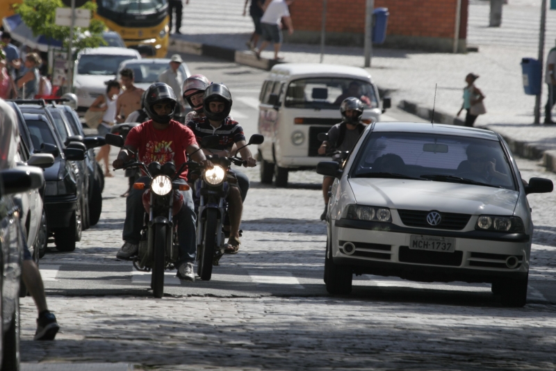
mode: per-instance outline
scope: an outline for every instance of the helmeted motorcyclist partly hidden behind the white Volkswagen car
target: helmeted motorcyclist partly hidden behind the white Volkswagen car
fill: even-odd
[[[336,124],[328,131],[328,140],[322,142],[318,154],[334,154],[337,151],[351,151],[365,130],[366,124],[361,122],[363,116],[363,102],[355,97],[347,97],[340,104],[342,122]],[[341,158],[333,157],[341,161]],[[328,211],[328,191],[334,183],[332,176],[325,176],[322,180],[322,196],[325,198],[325,211],[320,215],[320,220],[325,220]]]

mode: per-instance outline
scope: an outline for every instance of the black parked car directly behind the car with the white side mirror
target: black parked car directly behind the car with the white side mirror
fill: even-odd
[[[45,114],[24,113],[26,128],[31,138],[33,153],[49,153],[54,156],[54,165],[44,170],[44,210],[47,215],[49,235],[54,233],[56,249],[72,252],[81,229],[81,190],[78,188],[79,168],[85,150],[63,144],[56,135],[51,117]],[[81,144],[83,147],[83,144]]]

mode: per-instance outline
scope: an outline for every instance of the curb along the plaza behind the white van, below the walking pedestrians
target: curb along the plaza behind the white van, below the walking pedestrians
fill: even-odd
[[[239,63],[240,65],[247,65],[267,71],[270,71],[272,67],[279,63],[284,63],[268,58],[257,59],[252,51],[238,51],[236,49],[201,44],[200,42],[191,42],[178,38],[170,38],[168,50],[177,51],[178,53],[194,54],[195,56],[207,56],[229,60],[230,62]]]

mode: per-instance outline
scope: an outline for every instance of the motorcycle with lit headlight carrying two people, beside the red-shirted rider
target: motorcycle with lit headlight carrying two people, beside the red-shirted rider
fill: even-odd
[[[260,145],[264,140],[263,135],[253,134],[247,144]],[[210,148],[218,144],[218,135],[203,138],[202,148]],[[239,151],[239,149],[238,149]],[[220,157],[207,156],[213,163],[212,169],[193,170],[191,174],[197,175],[194,186],[194,199],[197,204],[197,274],[203,281],[209,281],[213,272],[213,265],[224,254],[224,230],[222,224],[227,215],[226,197],[229,192],[229,183],[236,181],[229,175],[231,164],[241,166],[245,160],[236,156]]]

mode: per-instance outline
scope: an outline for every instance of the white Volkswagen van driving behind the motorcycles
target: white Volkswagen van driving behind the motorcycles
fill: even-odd
[[[342,121],[340,104],[357,97],[366,104],[363,122],[379,121],[382,109],[370,74],[359,67],[316,63],[275,65],[259,95],[261,182],[286,187],[288,172],[313,169],[328,158],[318,156],[319,133]]]

